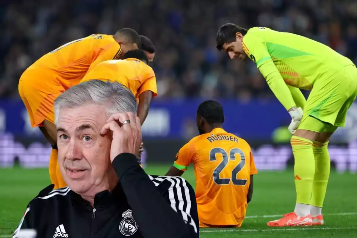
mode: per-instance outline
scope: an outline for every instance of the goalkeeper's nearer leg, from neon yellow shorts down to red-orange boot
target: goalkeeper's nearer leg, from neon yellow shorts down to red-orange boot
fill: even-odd
[[[347,67],[336,73],[334,78],[314,84],[304,108],[303,120],[291,138],[295,158],[294,173],[297,194],[295,211],[281,219],[269,222],[268,226],[300,226],[301,224],[305,225],[305,222],[312,224],[309,205],[311,204],[315,178],[313,142],[328,125],[343,126],[338,124],[336,118],[357,87],[355,79],[352,80],[352,77],[347,79]],[[353,68],[352,71],[355,71],[356,68]],[[357,74],[355,75],[357,76]],[[342,81],[343,83],[341,83]],[[323,150],[327,151],[327,145],[325,148]],[[328,159],[326,155],[324,157]],[[328,168],[326,168],[326,171],[328,171]],[[295,223],[292,224],[290,220],[295,221]],[[287,224],[288,222],[290,224]]]

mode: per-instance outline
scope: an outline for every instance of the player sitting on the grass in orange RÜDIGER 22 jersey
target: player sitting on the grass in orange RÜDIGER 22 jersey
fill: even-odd
[[[196,120],[200,136],[180,149],[166,176],[181,176],[193,162],[200,227],[241,227],[257,173],[251,148],[223,130],[219,102],[202,102]]]

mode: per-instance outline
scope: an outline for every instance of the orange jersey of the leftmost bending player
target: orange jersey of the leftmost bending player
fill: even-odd
[[[93,34],[47,53],[29,67],[50,69],[61,79],[80,80],[102,61],[119,59],[121,47],[112,35]]]

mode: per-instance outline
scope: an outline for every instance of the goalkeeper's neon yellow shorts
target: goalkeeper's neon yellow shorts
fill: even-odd
[[[346,114],[357,96],[357,68],[348,65],[328,79],[317,80],[304,107],[301,126],[308,116],[330,124],[344,127]],[[299,126],[299,129],[304,129]]]

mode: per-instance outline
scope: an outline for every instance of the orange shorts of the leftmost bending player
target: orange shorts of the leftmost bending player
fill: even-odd
[[[19,94],[30,116],[31,126],[42,126],[44,120],[55,123],[54,101],[71,85],[48,69],[27,69],[19,81]]]

